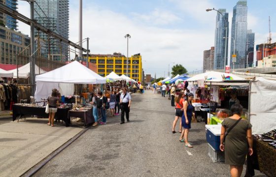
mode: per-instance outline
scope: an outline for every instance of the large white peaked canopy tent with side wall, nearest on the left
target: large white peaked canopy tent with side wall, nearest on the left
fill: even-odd
[[[52,89],[60,89],[63,95],[73,94],[73,84],[105,84],[106,79],[78,61],[35,77],[35,99],[47,98]]]

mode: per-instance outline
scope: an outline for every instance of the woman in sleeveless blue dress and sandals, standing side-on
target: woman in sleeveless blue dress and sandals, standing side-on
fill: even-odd
[[[182,127],[184,128],[181,133],[180,140],[183,140],[183,136],[185,140],[185,146],[188,148],[193,148],[192,145],[188,142],[188,134],[189,134],[189,129],[191,128],[191,122],[192,122],[192,116],[193,116],[193,110],[194,107],[192,106],[192,100],[194,98],[193,93],[188,93],[187,94],[188,99],[184,101],[183,108],[184,108],[184,114],[182,115]]]

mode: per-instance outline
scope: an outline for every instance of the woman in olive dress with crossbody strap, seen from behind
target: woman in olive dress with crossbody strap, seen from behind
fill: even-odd
[[[230,165],[231,177],[241,177],[247,152],[253,154],[252,125],[241,118],[242,105],[234,104],[231,113],[233,116],[221,124],[220,150],[225,151],[225,164]]]

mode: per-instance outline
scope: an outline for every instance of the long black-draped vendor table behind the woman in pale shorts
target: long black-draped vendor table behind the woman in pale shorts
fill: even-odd
[[[70,107],[58,108],[58,111],[55,115],[56,120],[63,120],[65,121],[66,126],[69,126],[70,119],[68,119],[67,115],[70,109]],[[45,113],[45,107],[14,104],[12,108],[12,121],[14,121],[18,116],[22,117],[24,115],[34,115],[42,118],[49,118],[49,114]]]

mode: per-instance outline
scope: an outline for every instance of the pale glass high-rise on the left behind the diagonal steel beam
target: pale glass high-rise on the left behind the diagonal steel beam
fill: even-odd
[[[69,0],[36,0],[36,3],[35,20],[43,27],[68,39]],[[43,12],[49,17],[49,20]],[[68,59],[68,44],[60,42],[58,39],[48,36],[43,32],[38,32],[39,31],[35,29],[35,37],[39,36],[39,38],[42,38],[45,41],[44,58],[53,61],[66,61],[66,59]]]

